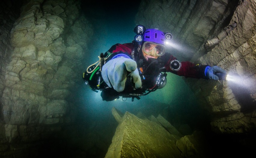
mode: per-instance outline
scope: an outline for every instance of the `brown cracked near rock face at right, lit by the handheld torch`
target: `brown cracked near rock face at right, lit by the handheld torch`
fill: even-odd
[[[256,128],[256,2],[241,2],[234,12],[230,24],[237,22],[237,27],[198,59],[224,68],[233,81],[195,84],[187,79],[202,107],[212,113],[211,125],[217,133],[251,133]]]

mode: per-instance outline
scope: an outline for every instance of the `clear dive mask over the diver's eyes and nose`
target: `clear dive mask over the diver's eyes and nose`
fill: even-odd
[[[153,42],[145,42],[142,49],[146,54],[151,56],[160,56],[165,53],[165,46]]]

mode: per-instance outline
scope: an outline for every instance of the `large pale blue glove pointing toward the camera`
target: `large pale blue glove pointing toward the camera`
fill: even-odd
[[[131,77],[135,88],[141,88],[142,82],[136,61],[126,57],[112,58],[102,67],[102,78],[110,88],[121,92],[125,88],[127,73]]]

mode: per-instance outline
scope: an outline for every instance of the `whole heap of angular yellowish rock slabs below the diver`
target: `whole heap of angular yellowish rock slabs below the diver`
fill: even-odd
[[[153,121],[150,121],[129,112],[120,115],[115,108],[112,114],[119,125],[105,158],[203,157],[202,144],[198,141],[202,136],[197,132],[182,136],[161,115],[155,119],[151,116]],[[169,132],[165,128],[169,128]]]

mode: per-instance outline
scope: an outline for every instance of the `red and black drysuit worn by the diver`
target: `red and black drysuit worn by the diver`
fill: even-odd
[[[159,56],[157,59],[155,58],[148,58],[148,61],[144,58],[141,50],[136,52],[136,44],[134,43],[125,43],[125,44],[115,44],[113,45],[105,54],[104,57],[108,57],[108,62],[117,54],[126,54],[129,55],[131,58],[132,51],[135,51],[135,61],[137,63],[137,67],[139,69],[141,79],[142,79],[142,89],[137,89],[134,91],[131,82],[128,82],[125,86],[123,92],[118,93],[113,88],[108,88],[102,91],[102,99],[103,100],[113,100],[118,98],[117,96],[129,97],[123,94],[131,94],[131,93],[138,93],[142,94],[145,90],[153,89],[156,85],[156,78],[161,72],[171,72],[178,76],[190,77],[190,78],[203,78],[206,79],[205,76],[205,68],[208,65],[200,65],[194,64],[189,61],[182,61],[180,62],[181,66],[178,70],[172,70],[170,67],[170,63],[174,60],[177,60],[173,55],[166,52],[164,55]],[[114,96],[114,97],[113,97]],[[113,97],[113,98],[111,98]]]

